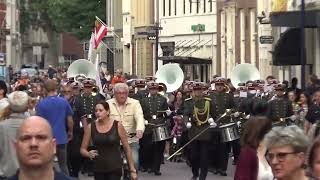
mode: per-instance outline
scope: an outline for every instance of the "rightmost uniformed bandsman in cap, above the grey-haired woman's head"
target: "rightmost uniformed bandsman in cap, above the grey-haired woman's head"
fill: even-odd
[[[286,118],[286,122],[295,121],[296,117],[293,115],[292,105],[285,96],[285,86],[277,84],[274,86],[275,96],[268,102],[267,116],[273,123],[280,123],[280,118]],[[280,123],[283,125],[283,123]]]

